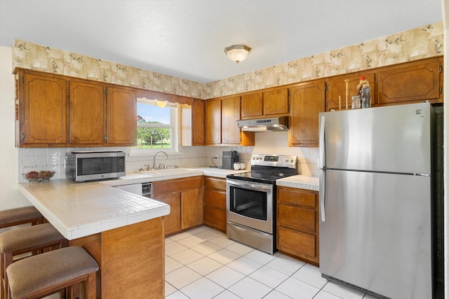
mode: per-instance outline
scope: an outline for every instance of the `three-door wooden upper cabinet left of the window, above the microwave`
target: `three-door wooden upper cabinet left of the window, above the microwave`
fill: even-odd
[[[135,91],[18,69],[16,146],[133,146]]]

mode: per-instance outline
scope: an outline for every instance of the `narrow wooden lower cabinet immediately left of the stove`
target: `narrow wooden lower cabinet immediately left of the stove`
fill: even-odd
[[[226,179],[204,176],[204,224],[226,232]]]

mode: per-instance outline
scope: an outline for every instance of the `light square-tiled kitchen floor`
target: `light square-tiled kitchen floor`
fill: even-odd
[[[206,226],[166,238],[166,299],[374,299],[321,277],[319,268],[270,255]]]

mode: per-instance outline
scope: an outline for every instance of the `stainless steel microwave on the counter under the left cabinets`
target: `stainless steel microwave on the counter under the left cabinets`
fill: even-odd
[[[125,175],[123,151],[72,151],[65,154],[65,177],[72,181],[116,179]]]

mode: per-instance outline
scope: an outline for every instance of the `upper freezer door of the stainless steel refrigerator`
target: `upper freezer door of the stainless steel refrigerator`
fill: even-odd
[[[430,174],[429,103],[320,113],[327,168]]]

